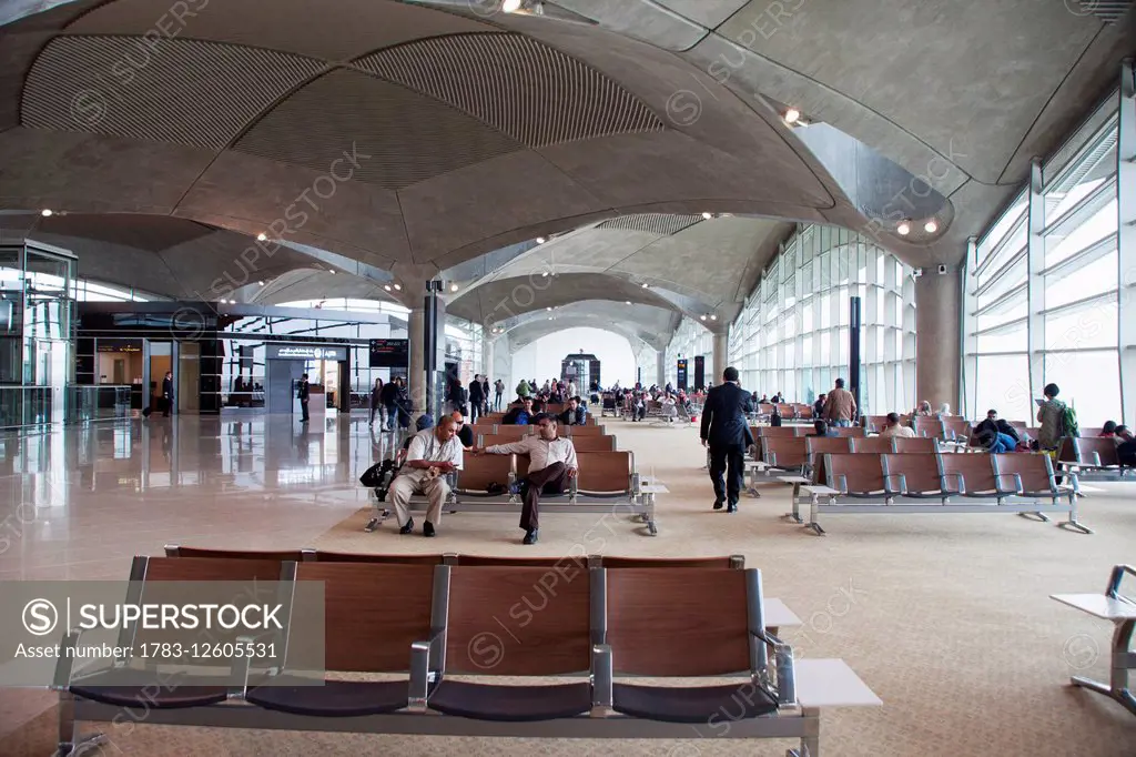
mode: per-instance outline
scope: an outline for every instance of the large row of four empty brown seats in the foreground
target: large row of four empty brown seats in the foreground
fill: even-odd
[[[283,627],[270,634],[287,650],[285,669],[274,669],[282,662],[276,657],[274,666],[245,660],[243,687],[195,685],[197,673],[179,676],[176,687],[159,687],[126,684],[118,668],[76,675],[68,662],[59,679],[68,697],[130,707],[144,693],[148,712],[177,710],[189,718],[194,708],[228,704],[235,709],[226,725],[257,727],[258,713],[274,712],[293,716],[289,727],[298,730],[326,727],[325,718],[399,712],[499,723],[607,717],[605,710],[705,723],[729,712],[736,722],[796,705],[792,649],[767,631],[761,573],[754,568],[595,567],[568,576],[542,566],[136,557],[131,575],[148,602],[176,590],[168,583],[164,590],[165,582],[220,582],[214,585],[224,591],[234,582],[278,581],[279,596],[293,598],[285,600]],[[303,582],[323,584],[321,627],[318,617],[311,622],[314,608],[295,599],[303,592],[292,587]],[[239,633],[229,639],[215,629],[210,642],[241,643]],[[170,638],[135,624],[120,640],[140,649]],[[76,641],[68,634],[64,646],[74,648]],[[295,671],[293,652],[312,648],[321,650],[326,673],[402,675],[342,680],[325,673],[318,685],[310,679],[304,685],[296,676],[312,671],[302,663]],[[737,683],[710,682],[738,673],[746,681],[744,704]],[[160,680],[161,673],[156,669],[154,676]],[[512,676],[568,682],[528,685],[508,682]],[[704,684],[634,681],[641,676]],[[73,732],[74,723],[64,722],[73,716],[70,707],[60,707],[60,733]],[[314,718],[311,725],[304,718]]]

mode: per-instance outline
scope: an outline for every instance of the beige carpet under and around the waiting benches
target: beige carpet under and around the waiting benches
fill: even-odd
[[[626,516],[549,515],[536,547],[519,544],[513,516],[446,516],[438,538],[399,536],[389,522],[364,533],[360,511],[319,536],[323,549],[562,556],[743,554],[762,568],[766,593],[804,626],[786,633],[802,657],[842,657],[884,700],[882,708],[825,716],[825,755],[1136,755],[1136,718],[1070,674],[1108,679],[1111,629],[1049,599],[1100,591],[1117,563],[1136,560],[1136,484],[1083,500],[1094,535],[1014,515],[826,516],[813,536],[780,519],[790,489],[743,496],[741,513],[710,509],[704,454],[692,429],[609,424],[640,471],[671,490],[660,534]],[[713,629],[705,630],[713,643]],[[0,755],[47,755],[55,713],[0,740]],[[329,735],[300,732],[111,727],[126,755],[784,755],[791,741],[503,740]]]

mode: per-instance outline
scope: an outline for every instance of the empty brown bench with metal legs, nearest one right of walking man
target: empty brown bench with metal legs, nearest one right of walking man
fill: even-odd
[[[795,486],[787,517],[804,523],[800,508],[807,505],[804,525],[818,535],[825,533],[822,513],[1016,513],[1043,522],[1045,513],[1066,513],[1059,526],[1092,533],[1077,519],[1076,484],[1059,485],[1044,454],[826,454],[811,479],[782,481]]]

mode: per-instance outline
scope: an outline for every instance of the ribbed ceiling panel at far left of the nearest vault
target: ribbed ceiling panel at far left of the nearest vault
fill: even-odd
[[[193,40],[60,36],[27,76],[25,126],[224,149],[323,64]]]

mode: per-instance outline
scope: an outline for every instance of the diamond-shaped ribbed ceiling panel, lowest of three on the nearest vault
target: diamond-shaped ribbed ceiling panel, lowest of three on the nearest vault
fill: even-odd
[[[234,149],[319,172],[358,155],[359,166],[339,173],[399,190],[525,148],[448,105],[341,69],[282,102]]]

